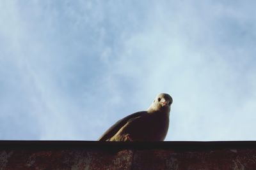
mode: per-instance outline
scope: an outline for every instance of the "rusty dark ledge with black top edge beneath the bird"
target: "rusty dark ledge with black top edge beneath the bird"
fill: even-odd
[[[0,141],[0,169],[256,169],[256,142]]]

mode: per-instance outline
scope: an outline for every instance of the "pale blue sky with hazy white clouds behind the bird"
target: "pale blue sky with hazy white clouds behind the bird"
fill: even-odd
[[[97,140],[173,98],[166,141],[256,140],[256,1],[0,1],[0,139]]]

